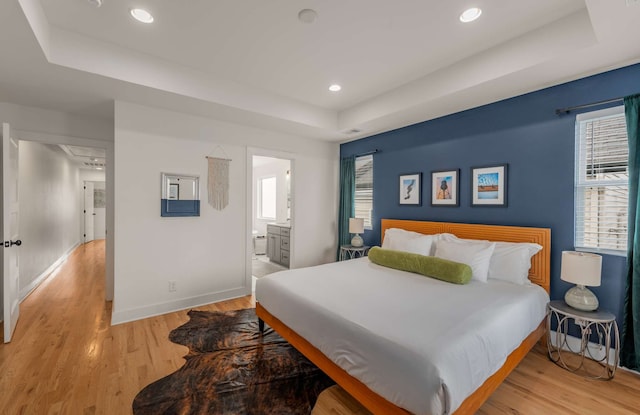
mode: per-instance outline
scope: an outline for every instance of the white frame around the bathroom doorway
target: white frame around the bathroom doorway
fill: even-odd
[[[245,278],[244,278],[244,287],[247,290],[247,295],[251,294],[251,269],[252,269],[252,260],[253,260],[253,156],[262,156],[262,157],[272,157],[277,159],[289,160],[290,163],[290,174],[289,174],[289,186],[290,186],[290,195],[291,195],[291,205],[290,205],[290,224],[292,232],[290,234],[290,246],[291,252],[289,253],[289,268],[295,268],[295,257],[296,257],[296,249],[295,249],[295,171],[296,171],[296,156],[293,153],[288,153],[285,151],[276,151],[276,150],[268,150],[264,148],[258,147],[247,147],[247,196],[246,196],[246,223],[245,223],[245,235],[246,235],[246,244],[245,244]]]

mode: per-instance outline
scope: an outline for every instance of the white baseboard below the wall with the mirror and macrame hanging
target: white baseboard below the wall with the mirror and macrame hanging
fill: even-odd
[[[168,301],[166,303],[153,304],[139,308],[131,308],[129,310],[114,311],[111,314],[111,325],[115,326],[116,324],[128,323],[130,321],[159,316],[162,314],[172,313],[174,311],[180,311],[188,308],[203,306],[206,304],[217,303],[219,301],[244,297],[251,294],[250,291],[247,291],[248,290],[246,287],[240,287],[217,293],[199,295],[196,297],[181,298],[178,300]],[[114,304],[114,308],[116,308],[116,304]]]

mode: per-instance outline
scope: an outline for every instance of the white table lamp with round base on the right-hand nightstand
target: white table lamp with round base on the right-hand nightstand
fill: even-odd
[[[586,286],[599,287],[602,257],[586,252],[563,251],[560,279],[576,284],[564,295],[564,301],[582,311],[598,308],[598,297]]]

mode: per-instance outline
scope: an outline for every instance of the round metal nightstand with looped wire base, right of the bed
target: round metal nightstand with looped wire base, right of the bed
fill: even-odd
[[[569,320],[573,320],[580,327],[579,350],[572,349],[567,341]],[[557,323],[555,334],[551,330],[552,321]],[[597,347],[604,353],[604,355],[599,353],[601,357],[594,357],[589,348],[589,337],[594,332],[598,335]],[[616,348],[612,349],[614,339]],[[604,310],[581,311],[568,306],[564,301],[551,301],[547,305],[547,348],[549,359],[564,369],[575,372],[584,367],[585,358],[588,358],[598,363],[602,372],[600,375],[587,377],[612,379],[620,362],[620,337],[616,316]],[[568,362],[568,353],[578,356],[577,364]],[[611,353],[614,355],[612,356]]]

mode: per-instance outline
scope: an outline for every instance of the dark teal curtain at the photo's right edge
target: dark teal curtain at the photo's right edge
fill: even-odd
[[[620,362],[640,370],[640,94],[624,98],[624,112],[629,137],[629,239]]]

